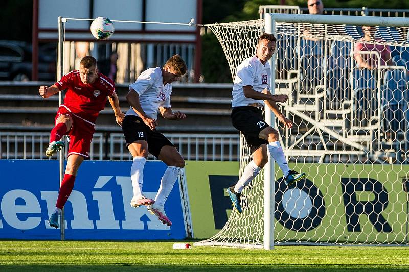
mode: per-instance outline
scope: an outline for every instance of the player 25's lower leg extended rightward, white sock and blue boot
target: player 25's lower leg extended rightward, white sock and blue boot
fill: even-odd
[[[268,152],[270,153],[271,157],[274,158],[274,160],[280,167],[281,171],[283,172],[284,182],[287,185],[290,185],[296,181],[305,178],[305,173],[293,171],[288,167],[288,162],[284,156],[284,151],[280,145],[277,130],[268,126],[262,131],[260,131],[259,137],[262,139],[266,139],[268,141],[267,144]]]

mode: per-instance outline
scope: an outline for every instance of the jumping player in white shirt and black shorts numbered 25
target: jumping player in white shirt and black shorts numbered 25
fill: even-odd
[[[280,146],[277,130],[270,127],[263,119],[260,109],[264,103],[274,112],[285,127],[291,128],[292,121],[287,119],[278,108],[276,102],[284,103],[287,95],[271,95],[270,64],[276,49],[276,38],[272,34],[263,33],[258,38],[256,55],[245,59],[237,66],[232,91],[232,124],[241,131],[253,152],[253,161],[244,168],[244,172],[235,186],[229,187],[227,193],[233,206],[241,213],[241,192],[260,172],[268,161],[267,150],[283,171],[284,182],[289,185],[305,178],[290,170],[283,149]]]

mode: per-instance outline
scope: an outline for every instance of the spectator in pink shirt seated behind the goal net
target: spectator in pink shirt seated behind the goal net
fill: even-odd
[[[354,59],[359,68],[373,70],[380,65],[393,65],[391,58],[391,48],[388,45],[373,44],[376,41],[376,27],[362,26],[363,39],[357,42],[354,47]],[[372,42],[372,43],[367,43]],[[380,59],[375,54],[365,53],[364,51],[379,53]]]

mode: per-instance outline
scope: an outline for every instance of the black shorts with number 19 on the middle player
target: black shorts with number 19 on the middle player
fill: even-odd
[[[174,146],[168,138],[156,130],[151,130],[142,119],[135,115],[126,115],[122,121],[122,131],[125,135],[126,148],[134,141],[148,142],[150,154],[159,158],[159,153],[165,145]]]

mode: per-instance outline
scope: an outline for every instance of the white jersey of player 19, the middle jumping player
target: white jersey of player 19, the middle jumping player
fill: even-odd
[[[137,81],[129,85],[129,90],[139,94],[139,102],[148,117],[157,119],[159,107],[170,108],[170,94],[172,84],[163,86],[162,71],[160,67],[149,68],[138,77]],[[138,114],[130,107],[126,115]]]

